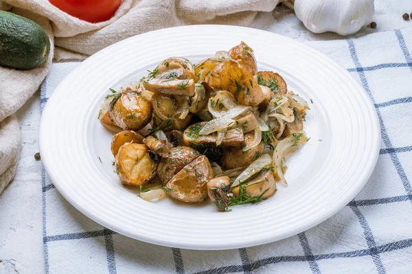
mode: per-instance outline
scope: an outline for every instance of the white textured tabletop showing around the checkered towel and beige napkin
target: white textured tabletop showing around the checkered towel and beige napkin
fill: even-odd
[[[402,14],[412,12],[411,0],[375,1],[376,29],[364,27],[352,37],[373,32],[411,27]],[[302,42],[334,40],[346,37],[337,34],[312,34],[287,8],[260,12],[251,27],[266,29]],[[45,273],[42,238],[41,162],[34,160],[38,152],[40,92],[17,112],[21,121],[22,149],[16,177],[0,195],[0,273]]]

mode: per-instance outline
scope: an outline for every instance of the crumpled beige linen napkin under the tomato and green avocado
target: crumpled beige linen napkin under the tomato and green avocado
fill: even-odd
[[[247,26],[279,0],[124,0],[109,21],[88,23],[62,12],[48,0],[0,0],[10,10],[41,25],[52,42],[50,58],[38,69],[0,67],[0,193],[12,180],[20,149],[19,124],[11,116],[38,89],[54,61],[84,60],[115,42],[144,32],[177,25]],[[54,47],[56,46],[56,47]],[[6,117],[10,119],[5,120]],[[1,123],[3,121],[3,123]],[[14,142],[8,142],[14,136]],[[11,140],[11,139],[10,139]],[[1,175],[3,174],[3,175]]]

